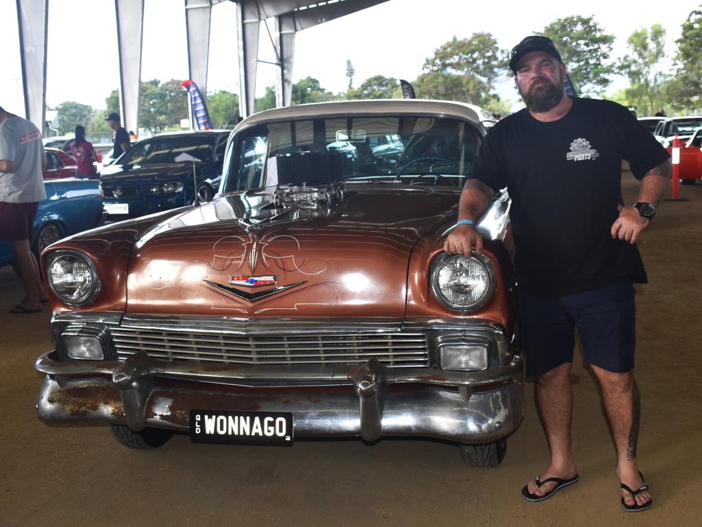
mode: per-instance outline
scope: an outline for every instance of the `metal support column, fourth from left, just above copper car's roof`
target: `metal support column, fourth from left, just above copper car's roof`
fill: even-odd
[[[253,114],[256,102],[256,66],[258,63],[258,30],[260,18],[255,0],[237,3],[239,29],[239,115]]]

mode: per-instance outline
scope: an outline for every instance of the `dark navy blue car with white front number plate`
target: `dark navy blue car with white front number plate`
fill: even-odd
[[[212,199],[219,189],[229,131],[159,134],[102,169],[106,223]]]

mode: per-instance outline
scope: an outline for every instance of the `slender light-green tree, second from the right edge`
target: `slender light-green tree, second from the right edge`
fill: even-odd
[[[635,101],[639,115],[653,115],[656,108],[665,102],[661,84],[665,75],[659,68],[665,57],[665,29],[654,24],[651,29],[636,30],[627,39],[629,53],[620,62],[620,72],[628,77],[631,87],[627,89],[628,100]]]

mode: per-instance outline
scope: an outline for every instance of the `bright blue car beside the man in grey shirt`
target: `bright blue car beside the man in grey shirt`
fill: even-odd
[[[46,200],[34,218],[32,251],[37,259],[45,247],[65,236],[97,227],[102,219],[102,194],[96,179],[44,180]],[[15,261],[8,240],[0,240],[0,266]]]

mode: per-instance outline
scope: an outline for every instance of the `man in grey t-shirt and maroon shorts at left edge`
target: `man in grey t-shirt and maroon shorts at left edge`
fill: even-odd
[[[39,266],[29,248],[34,216],[46,199],[46,153],[32,122],[0,106],[0,239],[10,240],[26,296],[10,313],[38,313],[47,301]]]

